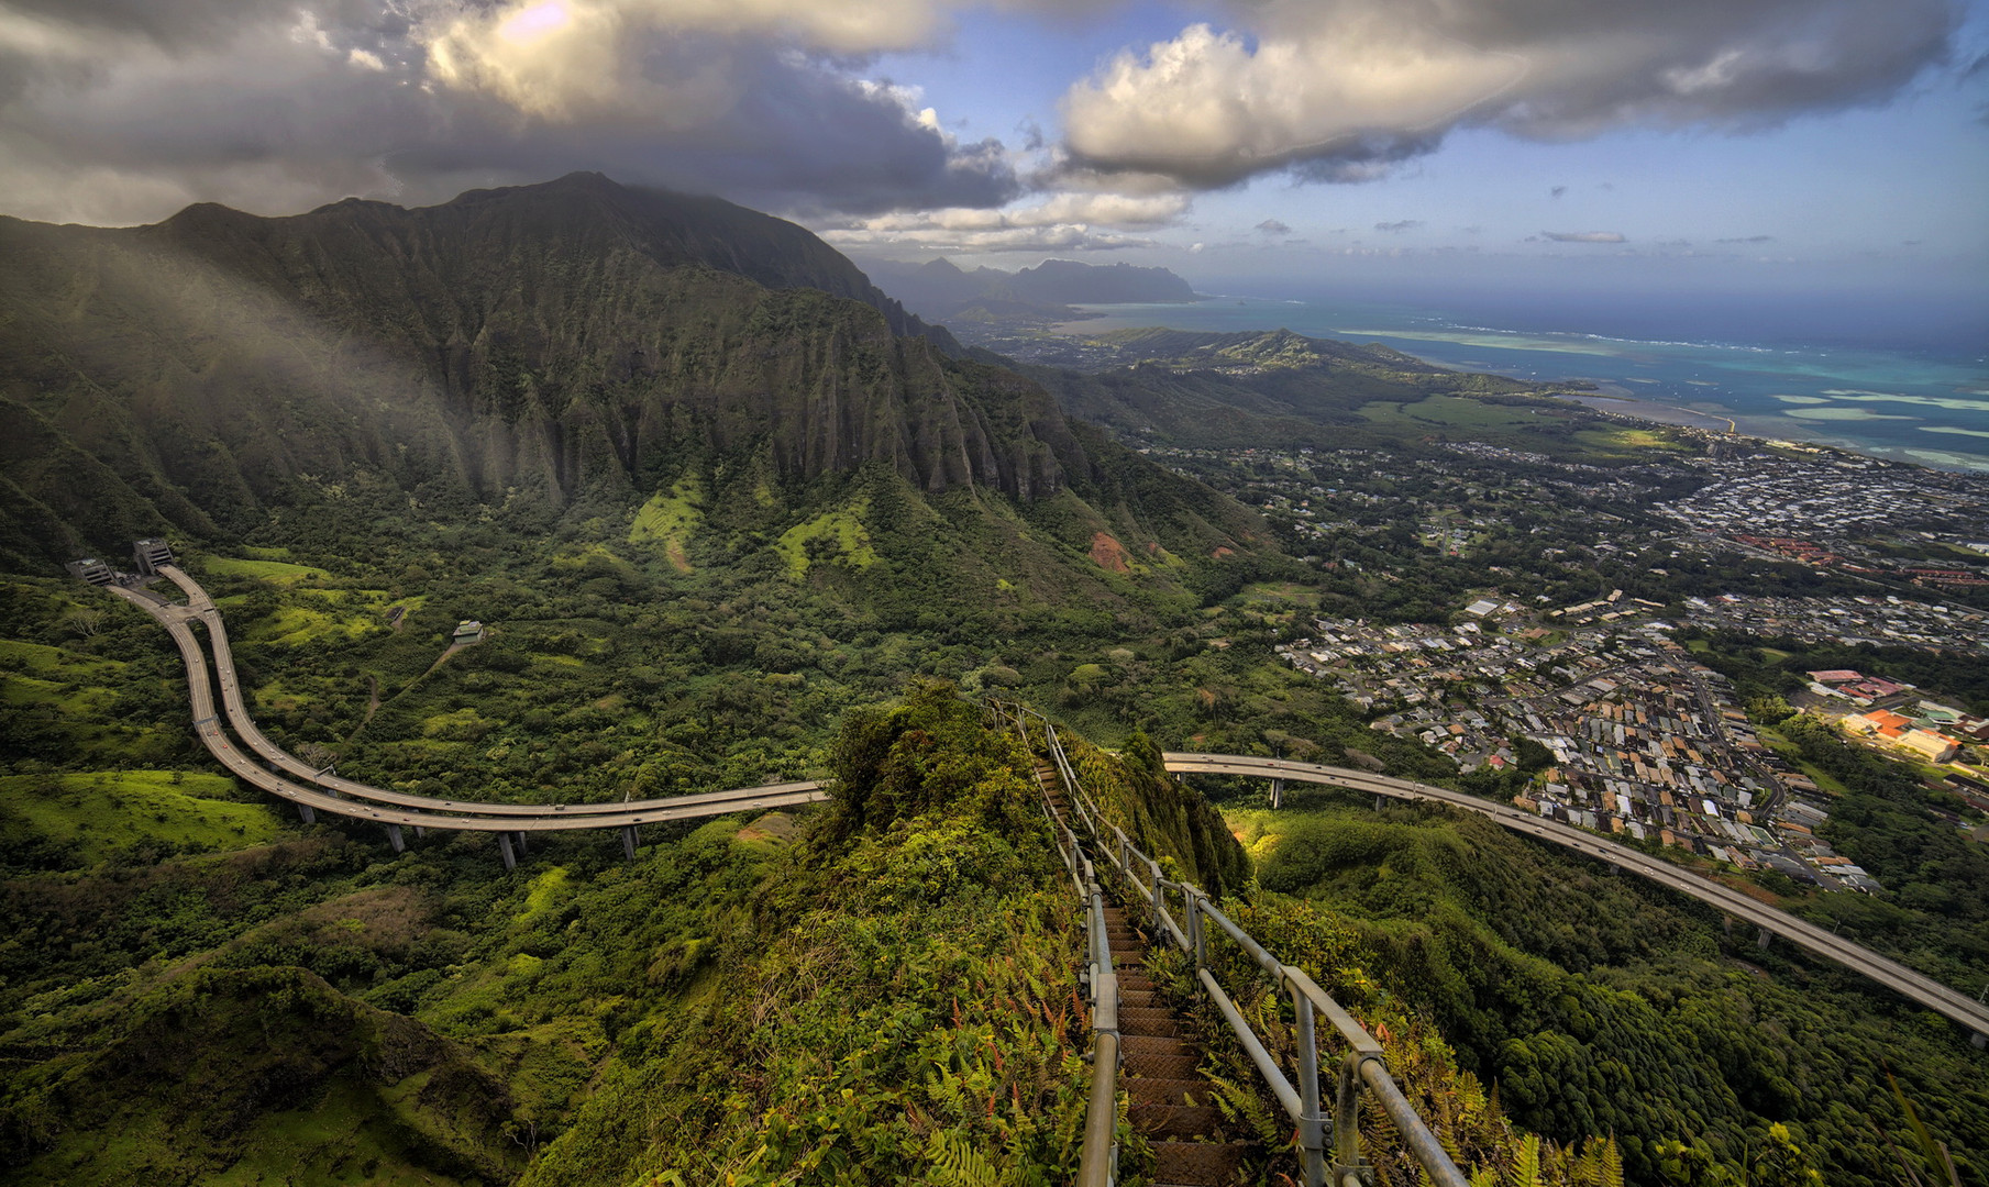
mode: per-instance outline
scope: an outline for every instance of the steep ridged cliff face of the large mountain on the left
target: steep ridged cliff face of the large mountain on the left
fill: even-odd
[[[555,507],[712,449],[1016,499],[1092,471],[1040,386],[957,358],[804,229],[599,175],[420,211],[0,219],[0,346],[14,555],[241,527],[360,471]]]

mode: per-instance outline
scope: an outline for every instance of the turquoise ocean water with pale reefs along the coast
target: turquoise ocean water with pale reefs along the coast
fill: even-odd
[[[1197,304],[1086,306],[1090,334],[1130,326],[1293,330],[1384,342],[1442,366],[1522,380],[1589,380],[1619,408],[1653,420],[1816,441],[1989,471],[1989,358],[1850,346],[1667,342],[1468,324],[1410,306],[1219,296]]]

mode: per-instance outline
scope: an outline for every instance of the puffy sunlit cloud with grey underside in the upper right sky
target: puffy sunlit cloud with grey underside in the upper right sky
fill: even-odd
[[[1062,99],[1072,163],[1227,187],[1370,181],[1454,127],[1756,129],[1878,103],[1951,46],[1949,0],[1229,0]]]

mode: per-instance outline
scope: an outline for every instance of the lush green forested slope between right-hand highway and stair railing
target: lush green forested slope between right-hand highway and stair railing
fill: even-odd
[[[1981,1173],[1989,1056],[1943,1018],[1488,821],[1323,791],[1301,805],[1227,813],[1265,907],[1303,899],[1337,936],[1329,964],[1364,968],[1434,1024],[1520,1125],[1613,1133],[1633,1181],[1679,1183],[1669,1143],[1744,1171],[1782,1125],[1826,1181],[1890,1181],[1888,1135],[1911,1149],[1896,1074],[1963,1175]]]

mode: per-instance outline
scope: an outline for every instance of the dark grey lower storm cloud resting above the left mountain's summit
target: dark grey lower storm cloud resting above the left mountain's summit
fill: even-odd
[[[998,143],[955,143],[903,91],[768,38],[654,38],[629,101],[555,117],[442,85],[408,22],[382,8],[93,2],[70,22],[44,4],[32,56],[10,54],[0,30],[6,213],[145,221],[197,199],[282,213],[348,193],[418,203],[573,169],[792,213],[1020,193]],[[702,89],[686,97],[678,80]]]

